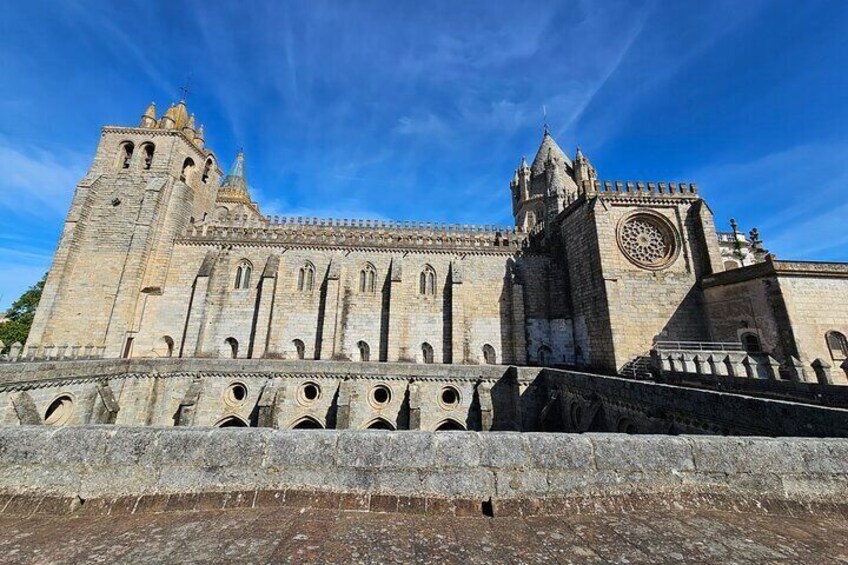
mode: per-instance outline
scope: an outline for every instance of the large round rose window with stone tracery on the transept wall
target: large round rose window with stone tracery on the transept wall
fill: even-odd
[[[662,269],[677,256],[674,227],[662,216],[633,214],[619,224],[618,246],[633,264],[643,269]]]

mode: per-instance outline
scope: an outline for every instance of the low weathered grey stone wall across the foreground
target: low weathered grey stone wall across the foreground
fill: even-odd
[[[0,428],[0,493],[331,492],[510,500],[848,495],[848,440],[79,426]],[[500,501],[500,502],[497,502]],[[491,504],[491,502],[488,502]]]

